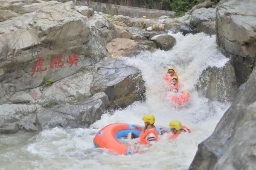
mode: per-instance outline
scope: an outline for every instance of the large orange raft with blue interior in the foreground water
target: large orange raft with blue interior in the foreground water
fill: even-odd
[[[170,128],[166,129],[170,131]],[[128,145],[122,144],[118,141],[119,138],[127,137],[128,133],[130,132],[140,136],[141,130],[135,128],[134,124],[109,124],[96,133],[95,137],[93,138],[93,143],[95,147],[105,148],[120,155],[131,155],[133,154],[131,148]],[[161,127],[157,127],[157,132],[161,132]]]

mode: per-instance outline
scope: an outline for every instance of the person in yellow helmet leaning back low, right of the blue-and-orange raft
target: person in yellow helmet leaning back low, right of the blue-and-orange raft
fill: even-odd
[[[180,121],[171,121],[169,124],[169,127],[171,129],[171,132],[166,130],[165,127],[162,127],[161,133],[172,133],[170,136],[170,139],[177,138],[182,132],[186,132],[186,130],[191,133],[191,130],[187,128],[186,126],[182,125]]]

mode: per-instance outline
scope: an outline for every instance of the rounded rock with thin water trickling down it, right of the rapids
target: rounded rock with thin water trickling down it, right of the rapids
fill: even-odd
[[[230,63],[227,63],[223,68],[209,66],[200,76],[197,89],[210,100],[232,101],[237,90],[233,66]]]

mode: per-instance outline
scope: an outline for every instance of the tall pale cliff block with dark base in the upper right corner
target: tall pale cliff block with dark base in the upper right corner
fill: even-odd
[[[217,7],[217,43],[231,58],[237,82],[244,83],[256,59],[255,0],[230,0]]]

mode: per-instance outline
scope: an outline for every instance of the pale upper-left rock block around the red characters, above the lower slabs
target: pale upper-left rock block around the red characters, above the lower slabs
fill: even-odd
[[[93,59],[98,59],[99,55],[94,52],[98,50],[95,45],[90,45],[95,44],[95,39],[90,39],[91,28],[87,17],[76,12],[72,2],[55,3],[1,22],[0,56],[3,58],[0,59],[0,67],[4,68],[1,83],[11,86],[13,90],[9,91],[35,88],[49,79],[58,81],[78,72],[82,66],[90,65],[90,58],[97,56]],[[92,42],[85,45],[89,40]],[[79,60],[70,68],[65,61],[74,52]],[[93,52],[94,55],[91,55]],[[51,58],[59,55],[66,64],[50,69]],[[47,67],[47,70],[36,72],[32,77],[38,56],[44,58],[42,69]]]

